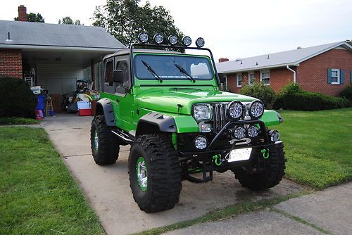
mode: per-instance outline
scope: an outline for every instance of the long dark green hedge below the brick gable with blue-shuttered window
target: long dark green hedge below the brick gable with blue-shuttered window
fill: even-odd
[[[303,91],[297,84],[288,84],[277,95],[274,108],[315,111],[346,108],[348,103],[348,100],[344,98]]]

